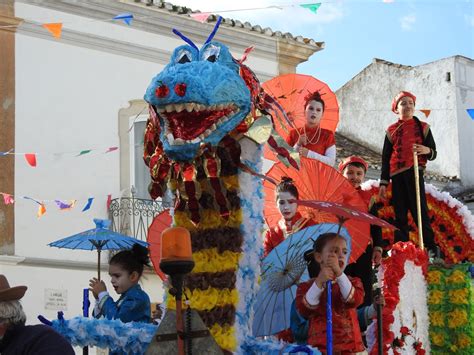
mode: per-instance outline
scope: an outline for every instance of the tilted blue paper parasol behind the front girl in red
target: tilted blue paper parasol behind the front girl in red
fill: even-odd
[[[290,309],[300,282],[309,279],[304,253],[324,233],[337,233],[340,226],[322,223],[290,235],[262,261],[262,281],[254,306],[253,335],[276,334],[290,327]],[[342,227],[339,234],[351,250],[351,236]]]

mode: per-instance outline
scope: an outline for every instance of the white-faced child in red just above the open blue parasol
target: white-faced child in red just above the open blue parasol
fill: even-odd
[[[299,194],[293,180],[282,177],[276,188],[276,202],[282,219],[277,226],[270,228],[265,234],[263,241],[264,256],[267,256],[273,248],[283,242],[286,237],[300,229],[316,224],[312,219],[305,218],[297,211],[296,200]]]

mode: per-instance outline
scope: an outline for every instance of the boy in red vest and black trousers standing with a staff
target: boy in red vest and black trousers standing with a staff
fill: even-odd
[[[416,97],[407,91],[400,92],[392,101],[392,111],[398,121],[390,125],[382,151],[380,197],[385,198],[386,187],[392,180],[392,205],[395,210],[395,242],[408,241],[408,211],[418,223],[416,209],[416,183],[413,169],[413,152],[418,154],[421,220],[425,247],[436,253],[434,233],[428,216],[423,171],[427,160],[436,158],[436,144],[430,126],[413,116]]]

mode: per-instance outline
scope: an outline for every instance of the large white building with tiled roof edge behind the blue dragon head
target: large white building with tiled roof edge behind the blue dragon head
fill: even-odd
[[[29,323],[39,314],[53,319],[57,310],[66,318],[82,313],[82,290],[96,275],[97,254],[47,244],[93,228],[93,218],[107,218],[109,194],[129,196],[136,186],[137,196],[146,197],[143,94],[183,44],[171,29],[203,43],[216,21],[201,24],[189,9],[147,3],[0,3],[0,152],[17,153],[0,157],[0,192],[15,198],[13,205],[0,203],[0,273],[12,285],[28,286],[23,306]],[[111,20],[120,13],[134,15],[131,26]],[[60,39],[41,26],[56,22],[63,23]],[[324,45],[228,19],[216,40],[236,58],[256,45],[248,64],[262,82],[295,72]],[[118,151],[105,154],[115,146]],[[92,151],[80,155],[84,150]],[[36,153],[37,166],[29,166],[23,153]],[[46,214],[37,218],[38,205],[23,196],[44,202]],[[91,209],[81,212],[89,197]],[[76,207],[59,211],[56,199],[77,200]],[[102,265],[108,281],[107,255]],[[160,301],[157,276],[147,272],[142,281],[152,301]]]

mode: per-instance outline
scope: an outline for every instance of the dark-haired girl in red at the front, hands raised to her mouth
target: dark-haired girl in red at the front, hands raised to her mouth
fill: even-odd
[[[309,320],[308,344],[326,352],[326,281],[332,286],[333,351],[353,354],[364,351],[357,320],[357,307],[364,299],[362,282],[344,273],[346,240],[335,233],[322,234],[313,247],[316,278],[301,283],[296,291],[296,309]]]

